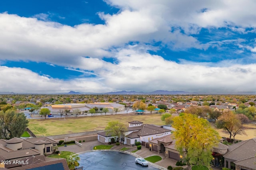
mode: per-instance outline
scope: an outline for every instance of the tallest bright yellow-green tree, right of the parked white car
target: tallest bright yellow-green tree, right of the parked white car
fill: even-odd
[[[196,115],[184,113],[173,118],[172,127],[176,129],[173,132],[176,148],[180,154],[185,150],[184,161],[188,170],[191,170],[192,164],[209,166],[212,160],[212,147],[218,145],[220,139],[210,123]]]

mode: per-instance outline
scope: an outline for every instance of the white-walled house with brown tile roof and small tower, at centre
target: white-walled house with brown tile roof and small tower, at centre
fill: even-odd
[[[122,132],[120,140],[117,136],[112,136],[111,134],[106,135],[106,132],[98,133],[98,141],[102,143],[111,142],[111,138],[114,138],[115,141],[123,141],[126,145],[134,145],[136,142],[142,143],[142,145],[148,147],[149,141],[170,135],[171,130],[169,128],[164,128],[156,125],[143,124],[140,121],[130,121],[129,127],[126,131]]]

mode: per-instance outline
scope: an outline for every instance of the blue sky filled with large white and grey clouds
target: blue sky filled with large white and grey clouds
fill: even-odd
[[[0,92],[256,91],[256,2],[2,0]]]

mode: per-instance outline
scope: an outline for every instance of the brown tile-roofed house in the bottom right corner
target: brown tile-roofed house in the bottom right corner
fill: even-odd
[[[224,167],[232,170],[256,170],[256,138],[228,146]]]

